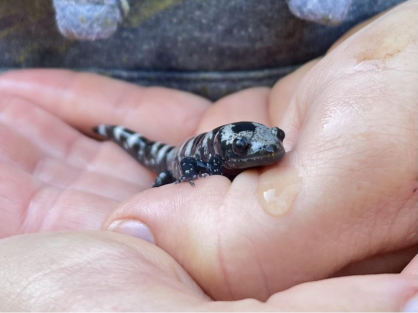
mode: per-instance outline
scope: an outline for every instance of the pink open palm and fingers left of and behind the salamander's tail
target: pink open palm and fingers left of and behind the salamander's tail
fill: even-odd
[[[110,120],[109,117],[113,113],[105,108],[112,107],[112,103],[102,94],[101,88],[102,84],[105,84],[109,85],[105,88],[115,90],[113,85],[115,82],[93,77],[97,80],[96,84],[93,83],[96,88],[92,90],[91,85],[88,85],[89,90],[85,90],[83,89],[86,86],[85,80],[90,80],[90,75],[48,71],[28,72],[27,75],[17,74],[19,80],[20,77],[24,77],[30,82],[29,90],[21,88],[21,81],[13,81],[13,78],[9,80],[7,75],[3,78],[3,86],[7,89],[11,84],[12,93],[29,92],[31,95],[28,96],[29,99],[25,99],[27,95],[4,96],[0,104],[3,134],[1,172],[9,178],[3,180],[1,189],[2,199],[8,204],[2,206],[5,227],[2,228],[1,236],[36,231],[100,229],[104,217],[111,210],[122,200],[148,188],[153,177],[152,173],[127,158],[112,144],[99,143],[66,124],[66,122],[71,123],[72,119],[77,120],[77,123],[84,123],[78,126],[88,131],[94,124],[100,123],[100,119],[106,114],[107,118],[104,117],[104,120]],[[58,86],[49,87],[48,83],[54,80],[55,75],[60,75],[61,81]],[[39,86],[37,81],[34,81],[38,77],[51,81]],[[72,94],[71,103],[63,103],[65,100],[62,99],[61,88],[67,88],[70,83],[79,84],[81,87],[74,88],[77,90],[71,90],[70,87],[67,93]],[[129,95],[125,95],[126,98],[123,99],[131,96],[133,98],[128,104],[121,99],[121,103],[114,104],[116,110],[121,110],[125,105],[134,106],[135,102],[143,97],[144,90],[138,90],[134,86],[122,89],[120,93],[115,91],[116,97],[122,97],[127,91]],[[97,92],[98,99],[90,98],[86,101],[83,99],[86,92],[91,94]],[[150,93],[148,90],[146,92]],[[155,90],[155,93],[158,93],[158,90]],[[168,96],[175,92],[166,93]],[[188,96],[183,97],[188,98]],[[45,98],[46,101],[41,103]],[[178,124],[183,120],[181,116],[183,111],[180,110],[181,98],[180,94],[177,103],[174,101],[174,105],[179,109]],[[190,98],[195,100],[193,96]],[[200,111],[195,110],[196,115],[189,111],[188,116],[184,116],[190,119],[185,125],[185,135],[191,133],[191,128],[197,123],[199,113],[202,112],[201,108],[205,105],[205,101],[196,100],[197,105],[193,101],[191,104],[187,101],[184,104],[185,111],[191,106],[200,107]],[[88,103],[90,101],[91,104]],[[168,97],[164,101],[168,107],[171,106]],[[158,110],[153,103],[145,103],[143,106],[150,108],[150,111]],[[137,120],[140,125],[149,124],[144,119],[145,116],[141,118],[143,106],[141,107],[139,101],[137,106],[139,109],[132,108],[129,114],[129,118]],[[125,109],[130,110],[126,107]],[[63,114],[66,114],[69,120],[64,116],[60,119],[54,115],[59,115],[60,111],[64,110],[68,112]],[[95,111],[105,113],[94,117]],[[93,119],[85,122],[90,116],[93,116]],[[165,136],[168,140],[170,125],[175,122],[175,120],[169,121],[172,116],[167,115],[165,121],[159,118],[163,124],[158,127],[155,125],[154,129],[158,132],[154,133],[151,130],[150,135],[155,134],[160,138]],[[181,129],[180,126],[179,128]],[[182,136],[181,131],[178,136]],[[172,140],[178,141],[179,138],[174,136]],[[21,188],[23,186],[24,188]],[[13,205],[7,202],[8,200],[12,200]]]

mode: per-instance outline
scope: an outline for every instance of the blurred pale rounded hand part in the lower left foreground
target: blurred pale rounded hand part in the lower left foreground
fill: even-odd
[[[207,299],[164,251],[105,232],[0,240],[2,311],[172,311]]]

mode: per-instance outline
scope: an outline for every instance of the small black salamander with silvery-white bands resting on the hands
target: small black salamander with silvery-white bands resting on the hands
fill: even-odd
[[[159,173],[153,187],[207,175],[231,181],[247,168],[276,163],[284,155],[284,132],[259,123],[226,124],[189,138],[179,147],[150,141],[122,126],[99,125],[94,132],[118,144],[141,165]]]

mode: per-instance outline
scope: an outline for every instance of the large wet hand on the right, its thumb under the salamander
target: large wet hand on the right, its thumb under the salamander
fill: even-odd
[[[391,10],[271,91],[225,97],[201,118],[196,132],[279,126],[290,150],[282,162],[232,184],[146,190],[103,229],[124,221],[112,230],[134,234],[145,223],[214,299],[402,270],[417,251],[416,8]]]

